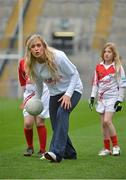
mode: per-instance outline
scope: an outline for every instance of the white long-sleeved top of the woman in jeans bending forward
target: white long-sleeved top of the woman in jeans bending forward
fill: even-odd
[[[43,81],[47,84],[51,96],[65,93],[71,97],[74,91],[82,94],[83,85],[76,66],[62,51],[54,50],[54,57],[60,76],[58,82],[54,80],[46,64],[35,64],[37,95],[41,96]]]

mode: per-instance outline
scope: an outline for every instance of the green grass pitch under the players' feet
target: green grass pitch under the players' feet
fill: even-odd
[[[40,160],[36,129],[35,153],[24,157],[26,143],[23,134],[21,101],[0,99],[0,179],[125,179],[126,178],[126,103],[122,112],[116,113],[116,126],[121,156],[99,157],[103,147],[99,115],[90,111],[87,101],[81,100],[70,117],[69,134],[78,152],[77,160],[50,163]],[[48,142],[51,138],[49,119],[46,120]]]

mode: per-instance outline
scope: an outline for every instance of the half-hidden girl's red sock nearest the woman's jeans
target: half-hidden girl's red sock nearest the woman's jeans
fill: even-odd
[[[44,125],[43,126],[38,126],[37,127],[37,132],[38,132],[38,137],[39,137],[40,151],[42,153],[44,153],[45,148],[46,148],[46,139],[47,139],[46,127]]]

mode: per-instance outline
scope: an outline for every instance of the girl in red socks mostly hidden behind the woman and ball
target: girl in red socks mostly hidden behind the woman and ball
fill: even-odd
[[[40,150],[38,152],[38,155],[42,156],[46,150],[47,131],[44,124],[44,120],[45,118],[49,118],[49,91],[47,86],[43,84],[44,91],[41,96],[41,100],[44,106],[44,110],[38,116],[31,116],[24,108],[24,105],[31,97],[35,95],[35,84],[33,84],[33,82],[25,73],[24,59],[21,59],[19,61],[18,77],[19,77],[19,83],[23,90],[23,99],[24,99],[23,102],[24,135],[27,142],[27,149],[24,152],[24,156],[31,156],[34,153],[34,147],[33,147],[34,123],[36,125],[37,133],[39,137]]]

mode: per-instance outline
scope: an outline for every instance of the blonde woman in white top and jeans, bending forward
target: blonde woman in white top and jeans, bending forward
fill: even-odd
[[[45,158],[51,162],[76,159],[77,153],[68,136],[69,116],[82,94],[82,82],[76,67],[64,52],[47,45],[40,35],[33,35],[26,45],[26,70],[36,83],[36,96],[41,97],[41,84],[50,92],[49,112],[53,136]]]

